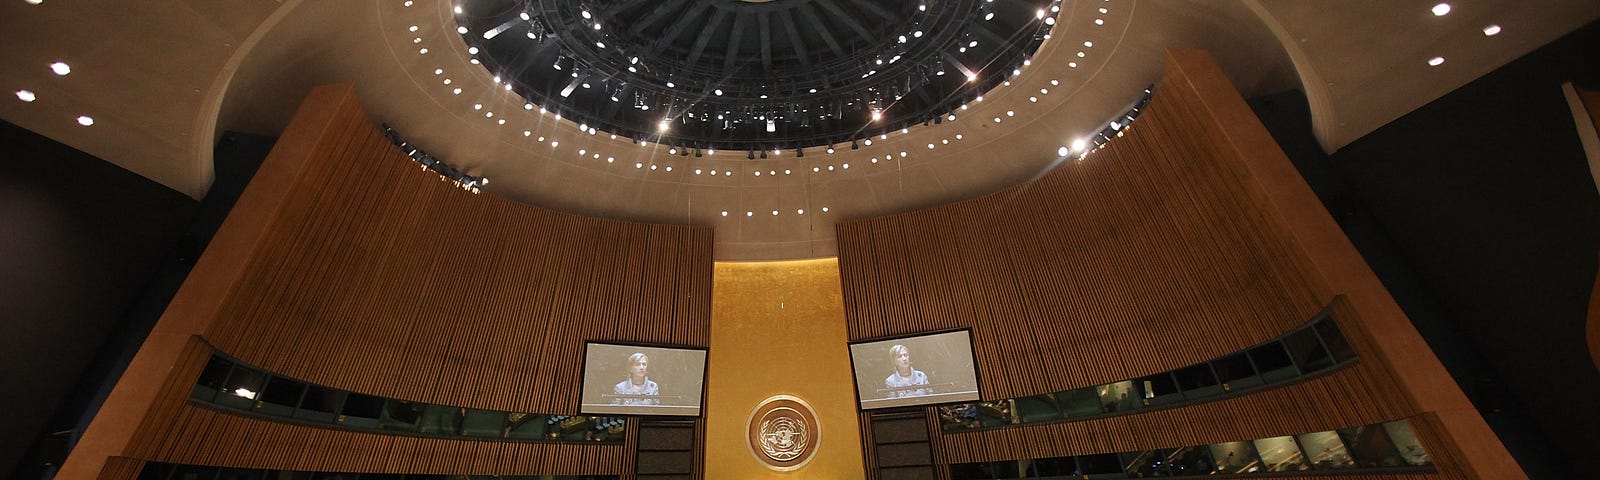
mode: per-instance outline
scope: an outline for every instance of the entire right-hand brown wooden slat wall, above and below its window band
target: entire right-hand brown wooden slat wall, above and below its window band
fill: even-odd
[[[1170,75],[1171,77],[1171,75]],[[1198,96],[1157,88],[1125,136],[1029,184],[838,226],[851,339],[973,328],[984,398],[1170,371],[1277,338],[1330,309],[1355,366],[1226,400],[1126,416],[938,434],[942,462],[1136,451],[1416,418],[1344,298],[1330,291]],[[1042,368],[1043,366],[1043,368]],[[1458,453],[1418,426],[1440,474]],[[870,454],[869,454],[870,458]]]

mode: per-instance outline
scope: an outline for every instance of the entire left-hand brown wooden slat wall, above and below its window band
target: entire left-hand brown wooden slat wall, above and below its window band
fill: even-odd
[[[362,394],[576,413],[584,341],[707,344],[710,229],[467,194],[384,139],[354,94],[342,99],[349,104],[325,109],[338,112],[333,126],[310,142],[306,173],[219,314],[195,320],[218,350]],[[210,354],[198,338],[182,350],[128,458],[323,472],[632,474],[627,443],[384,435],[189,405]]]

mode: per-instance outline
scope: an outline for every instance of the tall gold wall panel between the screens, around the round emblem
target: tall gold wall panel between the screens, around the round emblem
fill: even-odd
[[[720,262],[706,370],[706,478],[862,478],[838,261]],[[811,462],[766,469],[746,446],[763,398],[787,394],[822,427]]]

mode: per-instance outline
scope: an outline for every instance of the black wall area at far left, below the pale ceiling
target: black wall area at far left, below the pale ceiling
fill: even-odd
[[[5,122],[0,157],[0,472],[11,472],[53,432],[58,405],[82,400],[80,376],[197,202]]]

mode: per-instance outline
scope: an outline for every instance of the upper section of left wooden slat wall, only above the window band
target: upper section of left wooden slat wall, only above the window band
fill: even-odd
[[[219,350],[363,394],[576,413],[586,339],[706,346],[709,227],[472,195],[342,120],[205,333]]]

